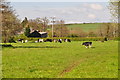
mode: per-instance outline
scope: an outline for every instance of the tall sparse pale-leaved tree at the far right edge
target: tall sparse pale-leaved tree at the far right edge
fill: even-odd
[[[113,22],[110,25],[113,28],[113,36],[114,37],[120,36],[120,30],[118,30],[119,29],[118,27],[120,26],[120,24],[118,22],[119,21],[118,19],[120,19],[120,17],[119,17],[119,15],[120,15],[119,5],[120,5],[119,0],[110,0],[110,2],[109,2],[109,10],[110,10],[110,13],[112,15],[111,20]]]

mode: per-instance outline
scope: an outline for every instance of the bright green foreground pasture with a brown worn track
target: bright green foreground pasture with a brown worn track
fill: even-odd
[[[4,78],[117,78],[118,42],[14,43],[3,48]]]

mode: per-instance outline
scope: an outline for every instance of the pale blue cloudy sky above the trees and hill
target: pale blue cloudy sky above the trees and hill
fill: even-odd
[[[26,2],[25,2],[26,1]],[[45,2],[46,1],[46,2]],[[23,20],[56,17],[56,20],[64,20],[66,23],[87,23],[87,22],[110,22],[111,15],[108,9],[107,0],[95,2],[95,0],[66,0],[66,2],[54,2],[55,0],[11,0],[11,5],[16,10],[18,18]],[[58,0],[60,1],[60,0]],[[72,2],[73,1],[73,2]],[[75,2],[76,1],[76,2]],[[91,2],[90,2],[91,1]]]

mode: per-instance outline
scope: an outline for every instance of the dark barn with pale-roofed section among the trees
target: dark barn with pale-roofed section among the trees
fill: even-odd
[[[28,37],[35,37],[35,38],[46,38],[47,32],[39,32],[37,30],[30,33]]]

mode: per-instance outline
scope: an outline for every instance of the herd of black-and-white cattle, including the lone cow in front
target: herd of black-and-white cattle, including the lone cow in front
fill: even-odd
[[[22,42],[22,43],[27,43],[28,40],[24,40],[24,39],[19,39],[18,42]],[[71,42],[70,39],[38,39],[35,41],[35,43],[39,43],[39,42]],[[82,45],[84,45],[86,48],[90,48],[92,46],[92,42],[83,42]]]

